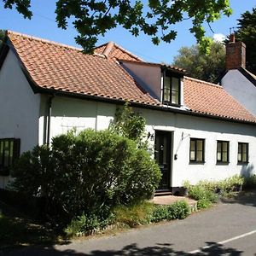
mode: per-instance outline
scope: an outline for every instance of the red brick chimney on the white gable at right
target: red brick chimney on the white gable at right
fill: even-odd
[[[226,69],[246,68],[246,45],[236,42],[235,34],[230,34],[230,43],[226,45]]]

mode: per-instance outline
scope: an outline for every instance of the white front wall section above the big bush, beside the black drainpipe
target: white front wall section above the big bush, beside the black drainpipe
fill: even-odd
[[[39,119],[40,145],[46,143],[47,104],[47,98],[42,96]],[[108,129],[115,110],[114,104],[56,96],[52,99],[50,138],[67,133],[73,128],[77,131],[87,128],[97,131]]]

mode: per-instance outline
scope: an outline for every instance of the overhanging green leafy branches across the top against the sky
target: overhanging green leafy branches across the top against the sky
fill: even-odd
[[[31,19],[31,0],[3,0],[4,8],[14,6],[25,18]],[[123,26],[132,35],[140,32],[152,38],[154,44],[160,41],[170,43],[177,36],[174,26],[183,20],[192,20],[190,32],[201,46],[207,49],[209,39],[204,38],[203,23],[218,20],[221,15],[231,14],[229,0],[148,0],[135,2],[129,0],[57,0],[56,22],[67,29],[67,20],[72,18],[73,26],[79,32],[76,42],[91,53],[98,35]]]

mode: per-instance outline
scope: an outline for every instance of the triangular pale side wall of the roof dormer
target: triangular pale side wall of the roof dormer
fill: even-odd
[[[122,67],[124,67],[151,96],[161,101],[160,67],[135,62],[123,62]]]

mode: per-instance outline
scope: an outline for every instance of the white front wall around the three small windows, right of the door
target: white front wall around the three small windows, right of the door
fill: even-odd
[[[177,153],[177,160],[174,160],[172,155],[172,187],[182,186],[185,180],[197,183],[205,179],[224,179],[241,174],[241,172],[256,173],[255,125],[148,110],[143,110],[143,115],[147,119],[149,132],[173,131],[173,154]],[[181,141],[182,134],[183,141]],[[204,164],[189,163],[190,137],[205,139]],[[229,165],[216,164],[217,140],[230,141]],[[249,143],[249,163],[247,165],[237,164],[238,142]]]

